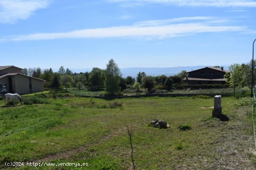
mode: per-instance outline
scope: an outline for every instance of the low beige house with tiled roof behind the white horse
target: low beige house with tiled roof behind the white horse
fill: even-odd
[[[27,94],[44,91],[45,80],[22,74],[22,68],[0,66],[0,92],[6,86],[8,93]]]

